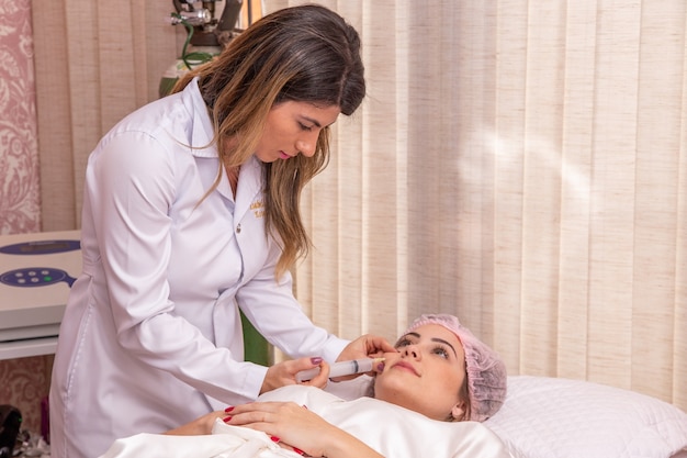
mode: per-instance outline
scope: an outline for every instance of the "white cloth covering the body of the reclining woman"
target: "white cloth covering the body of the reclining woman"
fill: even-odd
[[[290,386],[260,401],[293,401],[393,458],[509,458],[502,440],[476,422],[429,420],[371,398],[345,401],[316,388]],[[268,435],[217,421],[211,436],[138,434],[115,442],[101,458],[275,458],[299,457]]]

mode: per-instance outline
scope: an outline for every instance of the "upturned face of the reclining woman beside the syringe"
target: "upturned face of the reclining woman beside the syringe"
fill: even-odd
[[[460,417],[465,406],[459,398],[465,379],[465,354],[455,334],[427,324],[402,336],[396,348],[398,353],[384,355],[384,371],[376,376],[374,396],[435,420]]]

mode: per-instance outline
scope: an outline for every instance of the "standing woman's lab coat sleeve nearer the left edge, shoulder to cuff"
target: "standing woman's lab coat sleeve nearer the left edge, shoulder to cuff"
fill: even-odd
[[[192,185],[180,182],[188,176],[178,169],[182,153],[169,148],[128,130],[109,135],[90,158],[87,192],[117,340],[129,355],[205,394],[255,399],[267,368],[237,361],[243,355],[235,359],[170,313],[168,212],[178,190]]]

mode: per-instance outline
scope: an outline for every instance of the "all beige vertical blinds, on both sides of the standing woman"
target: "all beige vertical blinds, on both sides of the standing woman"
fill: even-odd
[[[393,338],[450,312],[510,373],[687,409],[685,2],[322,3],[360,31],[369,96],[304,196],[313,320]],[[44,230],[77,224],[88,153],[156,97],[170,8],[33,3]]]

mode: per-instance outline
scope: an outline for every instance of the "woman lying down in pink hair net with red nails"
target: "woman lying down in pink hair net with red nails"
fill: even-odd
[[[452,315],[421,315],[385,354],[371,396],[345,401],[312,384],[213,412],[167,435],[115,442],[102,458],[507,458],[480,422],[506,396],[498,355]],[[313,383],[326,383],[323,364]]]

